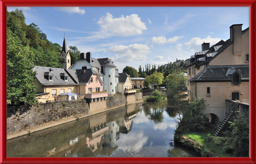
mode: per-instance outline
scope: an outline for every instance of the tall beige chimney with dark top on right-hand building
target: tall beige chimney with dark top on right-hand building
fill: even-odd
[[[242,54],[242,25],[232,25],[230,26],[230,42],[233,41],[233,54]]]

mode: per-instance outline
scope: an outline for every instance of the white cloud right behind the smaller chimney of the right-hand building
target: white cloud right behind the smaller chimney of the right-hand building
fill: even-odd
[[[185,43],[184,45],[188,46],[188,50],[196,52],[201,51],[201,45],[205,43],[210,43],[210,45],[214,45],[218,43],[221,40],[221,38],[211,38],[211,36],[207,36],[204,39],[201,38],[192,38],[188,43]]]

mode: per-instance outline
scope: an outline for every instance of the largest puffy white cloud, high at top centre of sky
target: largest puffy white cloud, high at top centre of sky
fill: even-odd
[[[147,30],[145,23],[140,21],[137,14],[113,18],[111,14],[107,13],[106,17],[100,18],[97,24],[100,25],[102,34],[109,32],[114,36],[121,37],[140,35],[142,30]]]

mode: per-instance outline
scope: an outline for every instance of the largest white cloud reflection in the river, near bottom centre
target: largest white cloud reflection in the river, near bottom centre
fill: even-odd
[[[129,135],[122,136],[122,142],[118,143],[118,149],[123,151],[138,152],[148,140],[148,136],[144,136],[143,132],[128,133]]]

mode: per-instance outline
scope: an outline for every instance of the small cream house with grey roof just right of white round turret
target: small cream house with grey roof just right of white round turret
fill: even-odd
[[[124,89],[132,89],[132,79],[130,75],[126,73],[119,73],[119,78],[118,78],[118,92],[119,93],[124,93]]]

